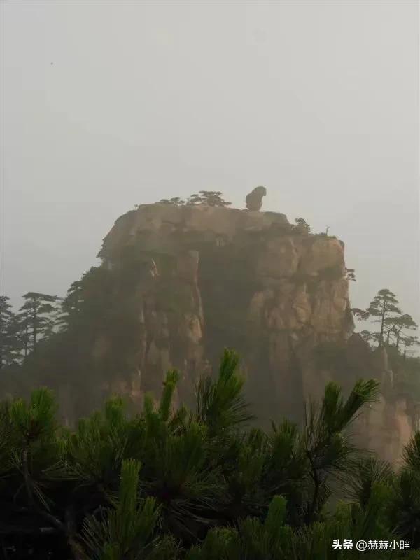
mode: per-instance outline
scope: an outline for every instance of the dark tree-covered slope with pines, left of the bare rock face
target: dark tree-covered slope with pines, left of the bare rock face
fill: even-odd
[[[112,270],[92,267],[71,284],[64,298],[30,292],[22,307],[14,310],[8,297],[1,297],[3,390],[21,381],[26,388],[39,383],[57,386],[59,379],[69,378],[80,394],[77,414],[101,402],[102,393],[94,387],[104,380],[111,382],[116,372],[127,371],[127,356],[141,337],[141,325],[126,294],[144,274],[144,262],[132,254],[122,255],[121,262]],[[99,365],[92,347],[101,337],[108,344],[106,359]]]

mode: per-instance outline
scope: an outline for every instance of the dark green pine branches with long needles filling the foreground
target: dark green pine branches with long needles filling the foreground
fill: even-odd
[[[394,472],[349,428],[376,381],[348,398],[330,383],[302,428],[247,427],[237,355],[197,386],[195,411],[122,399],[66,430],[47,389],[0,405],[0,558],[386,560],[420,555],[420,434]],[[410,541],[411,550],[333,549],[340,539]],[[417,549],[417,551],[415,550]]]

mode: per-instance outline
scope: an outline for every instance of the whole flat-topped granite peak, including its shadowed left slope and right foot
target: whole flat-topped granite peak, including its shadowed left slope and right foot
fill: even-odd
[[[358,420],[360,442],[393,461],[419,427],[386,353],[353,334],[336,237],[310,235],[274,212],[143,204],[118,218],[99,257],[76,294],[90,322],[73,323],[69,336],[38,353],[38,373],[13,379],[6,392],[52,386],[63,420],[72,421],[109,393],[141,406],[175,367],[176,398],[193,404],[197,378],[231,347],[262,423],[300,421],[304,400],[330,379],[349,391],[360,377],[377,377],[381,401]]]

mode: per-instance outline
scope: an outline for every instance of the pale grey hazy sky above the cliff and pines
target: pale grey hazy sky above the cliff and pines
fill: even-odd
[[[420,321],[416,1],[2,2],[1,292],[64,295],[134,204],[221,190]]]

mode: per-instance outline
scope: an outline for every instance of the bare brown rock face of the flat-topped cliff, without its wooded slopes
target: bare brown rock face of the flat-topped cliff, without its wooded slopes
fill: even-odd
[[[139,321],[132,397],[182,372],[188,400],[223,346],[243,358],[258,414],[296,415],[332,374],[314,351],[353,332],[344,244],[307,235],[271,212],[149,204],[118,218],[99,253],[107,269],[135,263],[127,297]],[[106,359],[100,337],[93,354]]]

